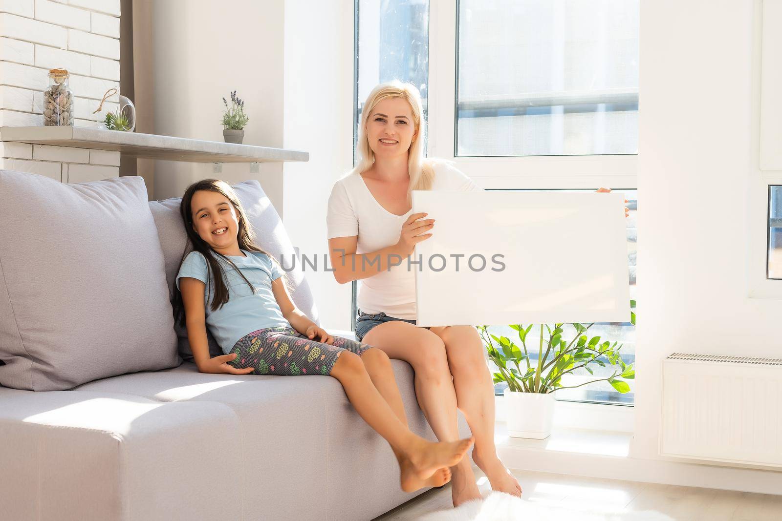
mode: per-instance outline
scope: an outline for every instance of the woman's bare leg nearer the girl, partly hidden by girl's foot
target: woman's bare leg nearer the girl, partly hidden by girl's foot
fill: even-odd
[[[415,371],[415,395],[429,426],[440,441],[459,439],[457,400],[443,341],[436,335],[400,320],[378,324],[362,341],[386,351],[390,358],[408,362]],[[454,506],[481,498],[468,458],[451,468]]]

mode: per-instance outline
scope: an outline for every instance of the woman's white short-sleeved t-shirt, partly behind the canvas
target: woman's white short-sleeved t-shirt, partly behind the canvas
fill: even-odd
[[[436,162],[433,168],[432,190],[482,190],[447,162]],[[356,253],[376,252],[399,241],[402,225],[412,213],[413,209],[402,216],[389,212],[369,191],[364,178],[358,173],[350,173],[334,184],[328,198],[328,238],[358,236]],[[398,262],[396,258],[392,260]],[[369,261],[377,262],[376,259]],[[361,266],[357,268],[361,269]],[[369,314],[385,312],[399,319],[416,319],[415,269],[418,269],[417,265],[408,269],[407,259],[402,259],[399,266],[359,280],[358,309]]]

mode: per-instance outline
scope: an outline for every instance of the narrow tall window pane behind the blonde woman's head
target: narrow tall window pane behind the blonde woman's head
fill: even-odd
[[[395,79],[414,84],[421,91],[424,117],[429,98],[429,1],[356,0],[356,12],[353,162],[361,111],[375,85]]]

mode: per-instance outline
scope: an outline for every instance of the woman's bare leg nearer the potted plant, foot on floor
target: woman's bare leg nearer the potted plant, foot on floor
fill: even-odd
[[[497,456],[494,444],[494,384],[483,342],[472,326],[432,327],[445,344],[457,404],[475,437],[472,459],[495,491],[521,497],[522,487]]]

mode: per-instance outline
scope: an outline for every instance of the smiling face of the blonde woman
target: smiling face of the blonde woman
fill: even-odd
[[[413,110],[406,99],[384,99],[367,119],[369,148],[380,157],[406,155],[417,134],[414,125]]]

